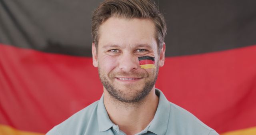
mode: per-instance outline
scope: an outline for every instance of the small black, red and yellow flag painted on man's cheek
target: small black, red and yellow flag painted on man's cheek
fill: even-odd
[[[141,68],[144,68],[144,69],[156,68],[154,57],[142,56],[142,57],[138,57],[138,59],[139,59]]]

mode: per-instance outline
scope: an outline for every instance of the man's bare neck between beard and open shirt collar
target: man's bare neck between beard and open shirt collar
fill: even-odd
[[[137,103],[118,101],[104,89],[104,105],[108,116],[127,135],[134,135],[147,127],[154,118],[158,100],[154,87],[144,99]]]

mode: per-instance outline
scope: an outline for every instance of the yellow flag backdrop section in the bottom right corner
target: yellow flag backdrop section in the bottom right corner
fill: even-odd
[[[256,127],[221,133],[220,135],[256,135]]]

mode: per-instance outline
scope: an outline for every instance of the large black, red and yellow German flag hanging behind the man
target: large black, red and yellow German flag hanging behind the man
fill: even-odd
[[[101,0],[0,0],[0,135],[42,135],[100,99]],[[256,135],[256,1],[156,0],[168,24],[156,87],[222,135]]]

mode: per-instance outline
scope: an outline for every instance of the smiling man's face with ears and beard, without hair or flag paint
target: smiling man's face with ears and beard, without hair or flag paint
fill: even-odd
[[[98,48],[93,44],[93,65],[98,67],[104,89],[122,102],[144,99],[154,89],[164,49],[157,52],[151,20],[109,18],[99,29]],[[155,57],[156,68],[142,69],[138,57]]]

